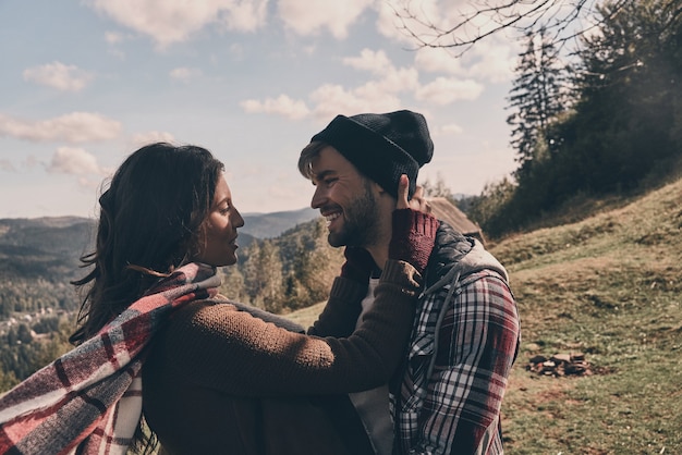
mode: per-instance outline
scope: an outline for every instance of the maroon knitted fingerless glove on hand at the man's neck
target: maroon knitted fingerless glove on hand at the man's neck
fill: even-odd
[[[424,273],[440,222],[428,213],[412,209],[397,209],[392,217],[393,233],[388,257],[404,260]]]

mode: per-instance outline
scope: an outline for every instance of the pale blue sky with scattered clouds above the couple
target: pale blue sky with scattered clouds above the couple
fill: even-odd
[[[398,109],[429,124],[421,181],[478,194],[515,168],[517,44],[415,50],[402,1],[0,0],[0,218],[95,217],[102,182],[159,139],[210,149],[242,212],[300,209],[309,138]],[[464,1],[415,3],[447,22]]]

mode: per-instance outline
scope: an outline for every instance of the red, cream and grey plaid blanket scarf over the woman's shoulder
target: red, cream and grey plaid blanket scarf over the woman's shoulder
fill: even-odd
[[[217,294],[212,267],[159,281],[96,336],[0,397],[1,454],[125,454],[142,413],[142,351],[181,305]]]

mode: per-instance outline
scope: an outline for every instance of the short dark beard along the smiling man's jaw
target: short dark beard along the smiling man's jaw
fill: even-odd
[[[379,237],[377,200],[372,193],[370,182],[364,183],[364,194],[343,209],[343,226],[329,232],[327,241],[333,247],[374,245]]]

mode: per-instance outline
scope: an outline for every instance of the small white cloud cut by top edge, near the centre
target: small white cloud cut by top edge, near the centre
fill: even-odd
[[[373,3],[374,0],[280,0],[278,7],[284,25],[299,35],[315,35],[327,29],[334,38],[344,39],[349,27]]]

